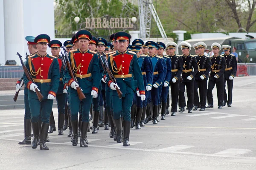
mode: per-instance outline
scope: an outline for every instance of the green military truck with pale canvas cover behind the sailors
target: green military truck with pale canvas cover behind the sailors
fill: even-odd
[[[193,45],[199,41],[203,41],[206,43],[207,48],[211,49],[211,45],[213,42],[218,42],[220,45],[230,45],[231,48],[236,47],[236,53],[238,54],[238,62],[244,62],[244,58],[246,54],[250,55],[250,62],[256,62],[256,39],[251,36],[250,38],[241,39],[237,37],[221,37],[221,38],[204,38],[204,39],[191,39],[186,40],[192,45],[190,54],[195,54],[195,50]],[[220,54],[223,52],[221,49]],[[232,49],[230,49],[230,53],[232,53]],[[182,54],[182,51],[179,47],[179,54]]]

